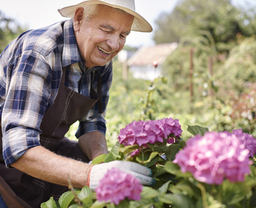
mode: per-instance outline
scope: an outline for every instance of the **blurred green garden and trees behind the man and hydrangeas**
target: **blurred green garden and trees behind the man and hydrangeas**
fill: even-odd
[[[178,42],[154,82],[128,75],[115,58],[106,120],[111,148],[132,120],[180,120],[210,131],[242,128],[256,137],[256,8],[244,1],[178,1],[155,20],[155,44]],[[0,52],[26,28],[0,7]],[[126,50],[138,50],[125,46]],[[152,60],[153,62],[154,60]],[[68,136],[75,139],[78,123]],[[183,131],[181,138],[191,136]]]

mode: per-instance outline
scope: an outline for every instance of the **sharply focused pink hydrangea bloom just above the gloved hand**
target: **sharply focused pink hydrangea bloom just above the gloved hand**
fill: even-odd
[[[143,146],[147,143],[154,144],[155,142],[163,142],[163,138],[167,139],[169,144],[173,144],[174,139],[172,137],[181,136],[181,125],[178,120],[173,118],[165,118],[162,120],[148,120],[148,121],[133,121],[129,123],[125,128],[120,130],[118,140],[120,144],[127,145],[139,145]]]

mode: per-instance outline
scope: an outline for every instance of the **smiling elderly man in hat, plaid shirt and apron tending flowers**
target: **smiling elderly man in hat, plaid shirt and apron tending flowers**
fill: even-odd
[[[105,113],[112,59],[130,31],[150,32],[134,0],[87,0],[59,9],[70,20],[26,31],[0,56],[0,207],[39,207],[75,188],[94,190],[113,166],[152,185],[137,163],[88,162],[108,153]],[[80,121],[78,142],[65,138]]]

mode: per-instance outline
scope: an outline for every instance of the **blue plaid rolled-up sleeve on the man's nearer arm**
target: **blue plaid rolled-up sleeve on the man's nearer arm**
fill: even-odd
[[[7,93],[1,130],[4,161],[9,167],[26,150],[40,145],[39,126],[48,106],[51,73],[42,55],[31,50],[23,52],[10,69],[4,70]]]

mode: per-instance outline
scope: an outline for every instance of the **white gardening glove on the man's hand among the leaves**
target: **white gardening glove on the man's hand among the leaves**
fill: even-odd
[[[154,185],[156,180],[151,177],[152,170],[140,165],[139,163],[133,163],[129,161],[111,161],[109,163],[101,163],[91,167],[87,185],[91,190],[95,190],[101,180],[109,169],[116,167],[127,174],[133,174],[140,180],[142,185]]]

